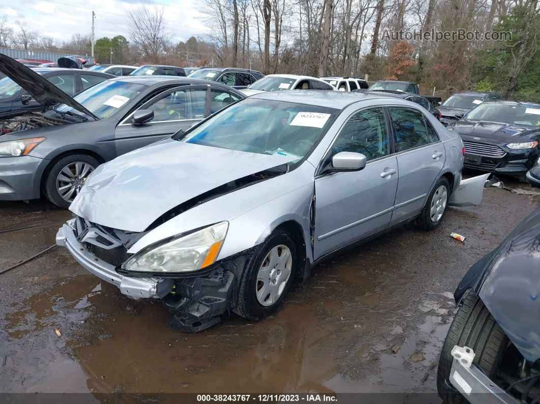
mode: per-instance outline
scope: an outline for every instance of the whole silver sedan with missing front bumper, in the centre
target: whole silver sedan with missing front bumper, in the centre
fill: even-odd
[[[257,320],[336,252],[437,228],[450,201],[472,203],[463,188],[481,198],[462,166],[459,136],[414,102],[257,94],[98,167],[57,243],[124,295],[162,300],[176,330]]]

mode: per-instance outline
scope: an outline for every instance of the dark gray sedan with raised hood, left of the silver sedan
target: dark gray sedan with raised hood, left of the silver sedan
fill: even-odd
[[[118,77],[70,97],[31,69],[0,71],[43,111],[0,119],[0,200],[45,195],[67,208],[101,163],[187,129],[245,98],[223,84],[181,77]],[[53,105],[60,104],[52,107]]]

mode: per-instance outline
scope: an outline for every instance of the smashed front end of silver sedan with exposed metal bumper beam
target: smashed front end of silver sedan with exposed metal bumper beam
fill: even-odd
[[[241,269],[248,253],[229,257],[196,273],[131,273],[123,264],[136,255],[127,250],[146,232],[107,228],[81,217],[58,230],[56,242],[65,246],[85,269],[116,285],[136,300],[161,300],[173,313],[169,325],[181,332],[198,332],[219,323],[233,304]]]

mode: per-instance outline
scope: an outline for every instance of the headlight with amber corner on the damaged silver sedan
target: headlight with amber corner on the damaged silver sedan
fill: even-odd
[[[122,268],[134,272],[192,272],[212,265],[227,234],[228,222],[213,224],[191,234],[173,237],[141,251]]]

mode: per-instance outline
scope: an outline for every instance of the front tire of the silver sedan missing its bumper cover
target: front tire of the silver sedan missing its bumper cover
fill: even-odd
[[[286,271],[281,265],[272,272],[273,268],[270,265],[271,261],[269,261],[272,259],[270,255],[273,251],[277,251],[278,254],[281,252],[282,260],[284,260],[286,249],[290,253],[291,260],[288,277],[285,277]],[[281,257],[278,256],[278,258]],[[249,257],[246,261],[240,280],[237,302],[233,311],[248,320],[259,320],[270,316],[278,310],[294,278],[296,267],[298,266],[296,257],[296,243],[293,236],[287,230],[278,229],[268,236],[265,242],[258,246],[253,256]],[[287,262],[289,262],[289,259],[287,259]],[[266,281],[265,268],[268,268],[268,284],[264,283]],[[279,270],[281,271],[280,273],[278,273]],[[259,274],[260,277],[258,279]],[[275,278],[271,279],[272,277]],[[264,278],[264,281],[261,281],[261,278]],[[276,282],[273,282],[273,280],[276,280]],[[281,291],[273,294],[268,292],[269,294],[267,295],[264,289],[265,285],[271,285],[273,282],[272,287],[274,289],[272,290],[275,290],[275,287],[280,285],[280,280],[282,284]]]

